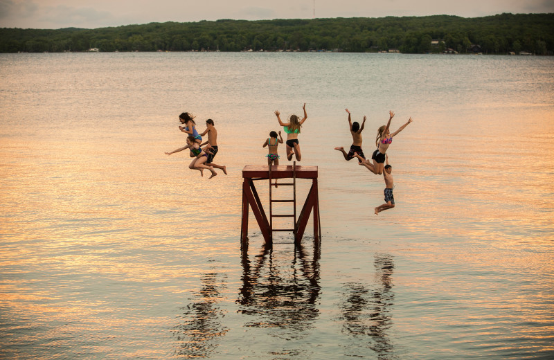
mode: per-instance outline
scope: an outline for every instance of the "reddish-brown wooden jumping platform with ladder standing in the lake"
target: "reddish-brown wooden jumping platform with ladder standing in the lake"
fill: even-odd
[[[313,213],[314,222],[314,240],[321,240],[321,224],[319,222],[319,195],[317,191],[317,166],[297,166],[296,161],[293,165],[246,165],[242,169],[242,224],[240,228],[240,240],[244,242],[248,239],[248,215],[249,209],[252,209],[254,217],[260,226],[260,231],[266,244],[273,243],[273,233],[275,231],[285,231],[294,234],[294,243],[300,244],[307,225],[310,213]],[[273,199],[272,188],[277,188],[275,179],[292,179],[292,182],[278,183],[278,187],[293,186],[292,199]],[[296,179],[312,179],[312,187],[307,194],[298,219],[296,219]],[[269,219],[258,196],[254,181],[269,181]],[[292,214],[274,215],[272,208],[274,203],[292,203]],[[292,228],[274,228],[274,217],[292,217]]]

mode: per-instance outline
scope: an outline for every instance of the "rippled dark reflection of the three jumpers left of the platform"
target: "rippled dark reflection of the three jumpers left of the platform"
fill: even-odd
[[[225,300],[221,292],[226,288],[226,275],[206,273],[200,280],[202,289],[195,293],[192,303],[182,308],[186,310],[181,316],[184,321],[174,330],[178,341],[175,354],[179,357],[208,357],[229,331],[222,325],[225,314],[218,306]]]

